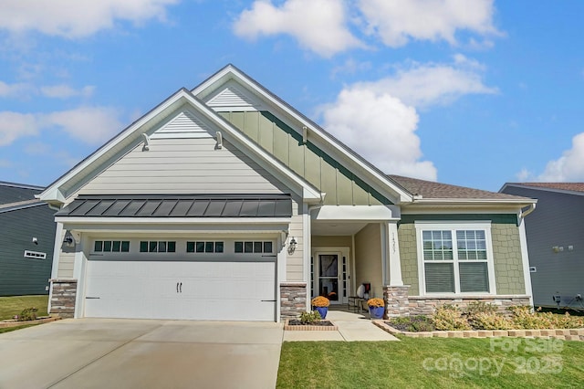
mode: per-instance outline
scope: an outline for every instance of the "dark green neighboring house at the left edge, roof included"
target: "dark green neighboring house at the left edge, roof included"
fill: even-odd
[[[48,294],[57,224],[43,189],[0,182],[0,296]]]

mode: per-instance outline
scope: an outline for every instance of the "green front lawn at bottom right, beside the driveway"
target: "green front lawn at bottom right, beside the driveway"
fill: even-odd
[[[584,342],[519,338],[491,342],[405,337],[401,342],[284,342],[276,387],[584,387]],[[457,369],[459,361],[462,368]],[[500,373],[494,362],[502,366]]]

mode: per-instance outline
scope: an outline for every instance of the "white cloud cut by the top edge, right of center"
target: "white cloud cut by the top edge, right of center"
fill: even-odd
[[[390,47],[410,39],[445,40],[456,44],[457,30],[481,35],[498,34],[493,26],[494,0],[360,0],[370,34]]]

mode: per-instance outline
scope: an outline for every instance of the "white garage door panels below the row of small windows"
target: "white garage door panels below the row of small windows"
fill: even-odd
[[[85,316],[275,321],[276,262],[89,260]]]

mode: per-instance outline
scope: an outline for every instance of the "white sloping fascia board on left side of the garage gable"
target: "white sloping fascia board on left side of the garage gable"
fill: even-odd
[[[71,180],[75,175],[81,173],[85,168],[87,168],[90,164],[95,163],[101,157],[107,154],[116,144],[121,142],[122,140],[128,138],[132,135],[135,131],[138,131],[145,125],[147,125],[150,121],[154,120],[158,115],[160,115],[163,111],[172,109],[172,107],[177,107],[182,104],[182,100],[186,96],[189,95],[188,90],[180,89],[176,93],[174,93],[170,98],[164,100],[162,104],[151,110],[150,112],[146,113],[142,116],[138,121],[134,121],[127,127],[125,130],[121,131],[118,135],[114,136],[109,142],[101,146],[96,152],[89,155],[87,159],[78,163],[77,166],[74,166],[68,173],[65,173],[56,182],[50,184],[43,193],[38,195],[38,198],[43,201],[47,202],[58,202],[58,203],[65,203],[66,198],[60,192],[59,188]],[[142,131],[143,132],[143,131]]]

